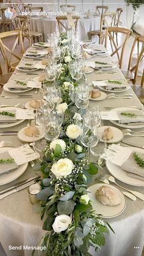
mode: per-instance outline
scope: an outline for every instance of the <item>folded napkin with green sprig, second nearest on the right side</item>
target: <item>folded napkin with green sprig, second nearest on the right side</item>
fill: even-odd
[[[138,109],[118,111],[118,116],[120,117],[119,123],[144,122],[144,112]]]

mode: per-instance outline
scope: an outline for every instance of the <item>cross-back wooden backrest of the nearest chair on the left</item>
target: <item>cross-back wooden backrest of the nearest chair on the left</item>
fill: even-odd
[[[3,42],[3,39],[13,37],[13,36],[16,36],[16,39],[15,39],[15,42],[13,43],[12,49],[10,49],[7,45],[5,45],[5,43]],[[21,58],[14,53],[18,40],[20,41],[20,45],[21,45],[21,53],[24,53],[24,46],[23,46],[21,31],[9,31],[9,32],[0,33],[0,47],[5,59],[5,65],[7,67],[8,73],[10,72],[10,60],[12,59],[12,57],[15,57],[16,59],[21,60]],[[7,53],[10,53],[10,59],[8,59]]]

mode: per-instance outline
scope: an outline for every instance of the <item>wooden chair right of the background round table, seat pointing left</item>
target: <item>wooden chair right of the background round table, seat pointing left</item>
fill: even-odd
[[[109,21],[107,21],[107,18],[109,18]],[[100,29],[95,31],[89,31],[88,38],[91,39],[93,35],[98,35],[99,43],[103,43],[104,37],[106,37],[106,27],[107,26],[111,27],[113,25],[114,18],[115,18],[115,12],[101,14]]]

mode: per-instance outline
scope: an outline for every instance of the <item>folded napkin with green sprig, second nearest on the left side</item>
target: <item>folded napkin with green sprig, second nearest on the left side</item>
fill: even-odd
[[[14,116],[10,116],[10,114]],[[16,121],[16,110],[0,109],[0,123],[15,122]]]

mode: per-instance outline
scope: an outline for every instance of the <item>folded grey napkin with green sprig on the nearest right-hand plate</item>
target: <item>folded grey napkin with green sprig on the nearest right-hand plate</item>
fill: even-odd
[[[136,153],[137,156],[142,158],[144,161],[143,153],[132,152],[131,155],[129,155],[129,158],[126,161],[124,161],[121,165],[121,169],[126,170],[126,172],[129,172],[131,174],[139,175],[140,177],[144,178],[144,168],[137,164],[137,161],[134,158],[134,153]]]

